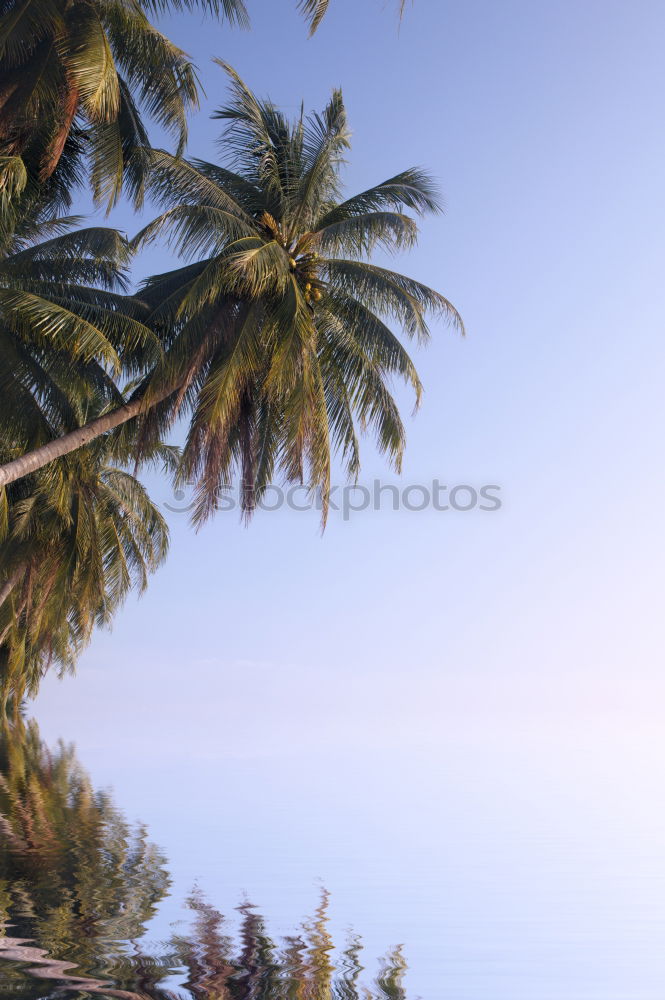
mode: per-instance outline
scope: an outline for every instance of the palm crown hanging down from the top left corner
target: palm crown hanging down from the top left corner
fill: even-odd
[[[403,6],[404,0],[402,0]],[[313,33],[328,0],[299,0]],[[198,105],[187,54],[150,22],[203,8],[247,27],[244,0],[5,0],[0,7],[0,190],[17,157],[24,184],[46,185],[62,207],[90,162],[95,199],[123,190],[140,204],[149,163],[142,112],[173,133],[178,152]]]

